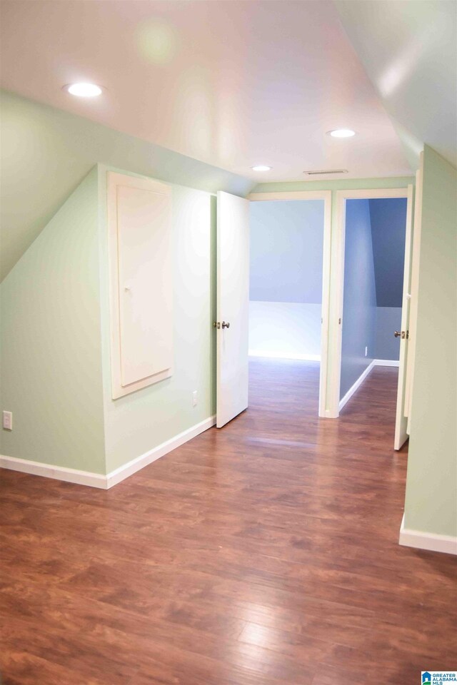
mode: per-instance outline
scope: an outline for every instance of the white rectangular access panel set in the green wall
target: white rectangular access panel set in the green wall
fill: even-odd
[[[171,375],[171,188],[109,172],[112,396]]]

